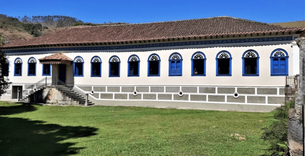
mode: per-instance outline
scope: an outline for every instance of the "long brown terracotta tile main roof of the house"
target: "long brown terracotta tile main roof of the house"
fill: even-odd
[[[255,22],[246,19],[221,16],[206,19],[191,19],[169,22],[73,28],[22,42],[4,45],[3,47],[70,43],[125,42],[304,30],[305,28],[285,28],[279,25],[271,25],[268,23]]]

